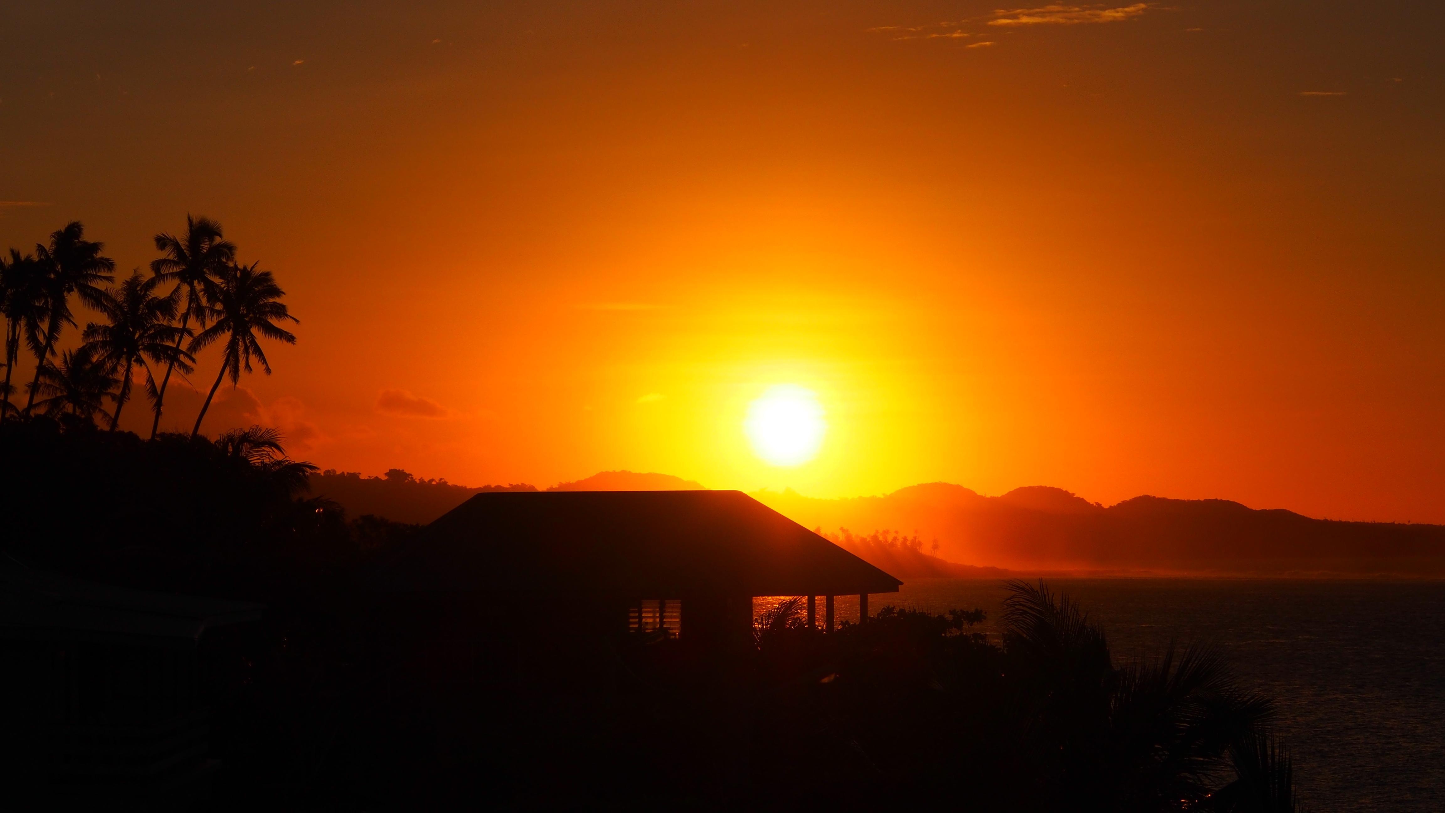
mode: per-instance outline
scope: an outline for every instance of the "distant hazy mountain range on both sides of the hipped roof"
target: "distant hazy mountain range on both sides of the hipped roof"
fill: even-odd
[[[311,488],[314,495],[340,502],[353,516],[376,514],[399,522],[431,522],[486,490],[538,490],[526,483],[465,488],[418,480],[396,469],[383,477],[325,472],[312,477]],[[548,490],[701,488],[672,474],[601,472]],[[1222,499],[1137,496],[1105,508],[1048,486],[983,496],[951,483],[848,499],[816,499],[792,490],[763,490],[753,496],[808,528],[822,529],[840,544],[850,540],[845,547],[857,548],[854,553],[870,561],[887,558],[890,566],[907,570],[896,573],[903,579],[997,577],[998,567],[1120,574],[1445,576],[1442,525],[1312,519]],[[842,534],[844,529],[851,535]],[[900,538],[910,537],[912,550],[897,547]],[[883,567],[881,560],[876,564]]]

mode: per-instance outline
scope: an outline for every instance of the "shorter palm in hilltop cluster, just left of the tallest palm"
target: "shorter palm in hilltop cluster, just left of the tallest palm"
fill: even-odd
[[[139,363],[146,370],[146,391],[156,398],[156,376],[146,360],[169,367],[181,367],[182,373],[192,370],[194,357],[181,350],[181,339],[189,330],[175,327],[176,301],[171,297],[156,297],[159,276],[146,279],[134,272],[120,284],[120,289],[107,289],[100,302],[100,311],[108,320],[105,324],[85,325],[85,346],[95,360],[123,369],[120,392],[116,393],[116,414],[110,418],[110,431],[120,424],[120,411],[130,396],[130,373]]]

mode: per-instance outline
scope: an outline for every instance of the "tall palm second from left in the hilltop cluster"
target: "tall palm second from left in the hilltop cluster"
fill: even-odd
[[[46,367],[46,360],[55,353],[61,328],[65,324],[75,324],[71,317],[71,294],[79,294],[87,305],[100,307],[104,297],[100,284],[114,281],[110,272],[116,269],[116,262],[101,255],[104,249],[104,243],[85,239],[85,227],[78,220],[52,233],[49,246],[35,247],[35,260],[43,273],[48,318],[45,333],[32,343],[36,352],[35,380],[30,382],[30,398],[25,404],[26,414],[35,405],[40,373]]]

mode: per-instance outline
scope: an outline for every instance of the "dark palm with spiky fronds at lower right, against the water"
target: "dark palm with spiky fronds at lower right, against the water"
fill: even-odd
[[[1260,759],[1248,759],[1250,748],[1266,736],[1273,706],[1233,677],[1218,650],[1169,647],[1116,668],[1103,628],[1078,603],[1042,582],[1007,587],[1009,671],[1032,697],[1023,735],[1040,775],[1052,777],[1046,793],[1094,804],[1077,809],[1178,810],[1181,800],[1207,804],[1230,761],[1241,799],[1260,797],[1256,775],[1279,772],[1280,759],[1251,772]]]

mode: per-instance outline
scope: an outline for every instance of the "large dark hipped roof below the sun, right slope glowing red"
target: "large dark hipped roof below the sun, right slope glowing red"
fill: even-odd
[[[379,573],[392,592],[634,597],[894,593],[897,579],[741,492],[493,492]]]

